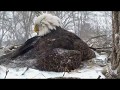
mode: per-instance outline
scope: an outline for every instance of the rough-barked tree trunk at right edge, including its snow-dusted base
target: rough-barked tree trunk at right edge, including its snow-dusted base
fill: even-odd
[[[112,57],[105,72],[106,78],[120,78],[120,11],[112,11]],[[117,71],[117,72],[116,72]]]

